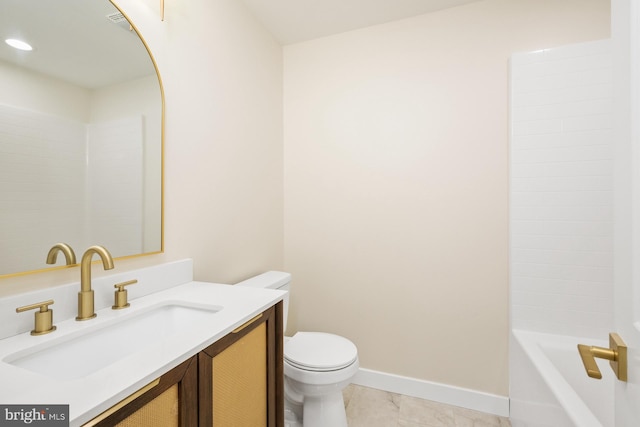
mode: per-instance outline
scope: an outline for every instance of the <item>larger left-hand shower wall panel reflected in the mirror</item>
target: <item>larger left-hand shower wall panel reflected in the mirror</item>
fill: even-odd
[[[34,254],[44,268],[57,242],[84,244],[85,133],[77,121],[0,105],[2,274],[33,270]]]

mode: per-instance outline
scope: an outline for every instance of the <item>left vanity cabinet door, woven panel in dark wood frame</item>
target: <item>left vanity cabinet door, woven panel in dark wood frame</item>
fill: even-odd
[[[197,356],[178,365],[83,427],[192,427],[198,425]]]

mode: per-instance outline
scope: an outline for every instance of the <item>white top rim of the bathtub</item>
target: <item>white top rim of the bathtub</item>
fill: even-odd
[[[578,396],[573,387],[567,382],[564,376],[558,371],[553,362],[549,359],[540,343],[550,343],[561,346],[574,346],[578,352],[579,342],[589,343],[607,347],[608,343],[594,338],[582,338],[570,335],[557,335],[544,332],[526,331],[512,329],[512,337],[524,350],[527,358],[531,361],[542,380],[547,385],[558,403],[562,406],[569,419],[580,427],[604,427],[595,414]],[[585,373],[586,375],[586,373]]]

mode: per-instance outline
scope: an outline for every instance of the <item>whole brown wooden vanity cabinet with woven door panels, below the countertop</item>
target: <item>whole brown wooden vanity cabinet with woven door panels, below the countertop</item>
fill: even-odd
[[[282,302],[83,427],[284,427]]]

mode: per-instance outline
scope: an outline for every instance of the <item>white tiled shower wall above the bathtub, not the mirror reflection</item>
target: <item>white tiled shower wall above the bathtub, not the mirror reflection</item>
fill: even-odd
[[[608,40],[511,58],[513,328],[610,332],[612,95]]]

